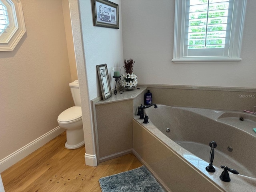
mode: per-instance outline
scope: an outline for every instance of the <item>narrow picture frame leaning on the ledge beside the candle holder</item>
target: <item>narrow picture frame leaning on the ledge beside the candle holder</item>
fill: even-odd
[[[97,65],[98,77],[100,81],[100,89],[102,93],[102,99],[106,100],[112,96],[107,64]]]

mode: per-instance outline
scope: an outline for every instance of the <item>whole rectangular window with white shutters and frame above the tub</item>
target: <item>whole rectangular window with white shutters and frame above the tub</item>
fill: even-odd
[[[246,0],[176,0],[173,62],[241,60]]]

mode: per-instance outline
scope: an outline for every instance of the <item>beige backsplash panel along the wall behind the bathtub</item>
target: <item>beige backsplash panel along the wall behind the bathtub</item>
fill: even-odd
[[[244,111],[256,106],[256,88],[138,84],[147,87],[153,103],[168,106]]]

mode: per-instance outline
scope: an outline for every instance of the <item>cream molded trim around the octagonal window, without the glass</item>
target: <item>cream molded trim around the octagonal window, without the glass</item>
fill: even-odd
[[[12,13],[9,14],[10,17],[13,17],[12,20],[13,26],[12,30],[8,31],[6,38],[0,41],[0,51],[12,51],[26,32],[26,26],[22,11],[22,4],[20,0],[1,0],[3,3],[8,3],[11,5]]]

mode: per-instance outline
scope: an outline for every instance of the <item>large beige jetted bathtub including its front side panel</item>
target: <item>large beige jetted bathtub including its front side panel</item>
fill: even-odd
[[[134,154],[167,191],[256,191],[256,115],[164,105],[144,113],[148,124],[133,119]],[[212,140],[214,173],[205,169]],[[221,165],[239,174],[223,182]]]

